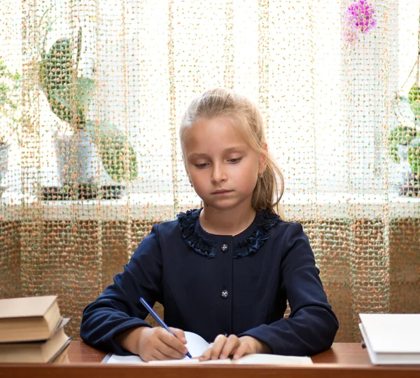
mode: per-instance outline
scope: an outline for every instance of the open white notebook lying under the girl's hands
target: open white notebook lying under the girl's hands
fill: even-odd
[[[274,354],[250,354],[239,358],[238,360],[209,360],[202,363],[197,358],[209,349],[211,344],[206,342],[201,336],[193,332],[185,332],[187,339],[187,348],[190,352],[191,358],[183,358],[182,360],[166,360],[166,361],[151,361],[147,364],[153,365],[179,365],[179,364],[237,364],[237,365],[311,365],[312,360],[309,357],[298,356],[276,356]],[[104,363],[120,363],[120,364],[143,364],[145,363],[139,356],[106,356],[103,360]]]

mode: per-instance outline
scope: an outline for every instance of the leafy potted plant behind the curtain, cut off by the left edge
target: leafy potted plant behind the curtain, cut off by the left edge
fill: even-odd
[[[6,190],[8,153],[13,140],[20,144],[20,90],[22,78],[0,59],[0,196]]]

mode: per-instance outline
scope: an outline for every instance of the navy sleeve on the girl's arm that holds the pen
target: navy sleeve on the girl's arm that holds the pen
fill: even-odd
[[[113,283],[94,302],[83,310],[80,337],[94,348],[123,356],[132,353],[121,348],[116,335],[141,326],[148,311],[139,302],[144,297],[148,304],[162,302],[162,253],[158,224],[152,228],[125,264],[123,273],[116,274]]]

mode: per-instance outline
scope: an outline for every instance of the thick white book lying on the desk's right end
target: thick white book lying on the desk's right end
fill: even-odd
[[[420,364],[420,313],[360,313],[360,332],[374,365]]]

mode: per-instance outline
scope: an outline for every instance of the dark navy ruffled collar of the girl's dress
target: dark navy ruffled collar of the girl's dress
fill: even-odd
[[[177,215],[179,229],[186,243],[202,256],[216,257],[217,238],[208,234],[200,226],[199,216],[202,209],[188,210]],[[233,257],[240,258],[257,252],[268,239],[268,231],[277,222],[279,215],[264,210],[257,212],[251,225],[241,234],[234,236]]]

